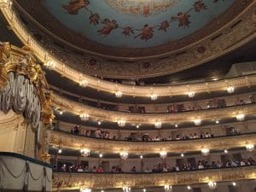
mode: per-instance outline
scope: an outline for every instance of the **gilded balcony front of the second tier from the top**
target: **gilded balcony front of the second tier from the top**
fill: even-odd
[[[63,96],[53,94],[53,105],[55,108],[61,108],[68,112],[80,115],[89,114],[91,119],[102,121],[118,122],[125,120],[126,123],[134,124],[154,124],[161,123],[180,123],[193,122],[195,119],[224,119],[234,118],[238,114],[253,114],[256,113],[256,104],[247,104],[227,108],[213,108],[206,110],[197,110],[181,113],[124,113],[116,111],[108,111],[101,108],[93,108],[81,102],[73,102]]]

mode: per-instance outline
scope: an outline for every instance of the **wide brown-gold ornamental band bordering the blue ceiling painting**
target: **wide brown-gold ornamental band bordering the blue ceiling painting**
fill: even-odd
[[[26,12],[26,9],[23,9],[21,11],[22,14],[26,15],[32,22],[39,28],[33,27],[33,32],[38,32],[39,34],[42,34],[44,37],[44,40],[42,41],[42,44],[44,44],[44,48],[47,48],[51,51],[52,54],[54,54],[56,57],[58,57],[59,60],[65,61],[65,67],[72,66],[76,73],[81,72],[85,73],[91,76],[94,76],[97,74],[99,77],[106,77],[106,78],[116,78],[116,79],[140,79],[140,78],[150,78],[150,77],[156,77],[160,75],[166,75],[170,73],[176,73],[178,71],[187,69],[189,67],[195,67],[198,66],[206,61],[211,61],[212,59],[217,58],[220,55],[224,55],[229,53],[230,51],[237,49],[241,47],[241,45],[246,44],[247,42],[253,40],[253,38],[256,37],[255,33],[255,1],[238,1],[234,9],[230,10],[230,15],[233,15],[233,20],[230,22],[227,22],[225,20],[228,18],[229,15],[224,16],[224,20],[227,23],[222,23],[220,19],[216,20],[215,25],[218,26],[220,23],[222,23],[222,27],[218,26],[218,29],[212,29],[211,33],[207,37],[201,35],[198,39],[196,35],[193,36],[193,38],[189,37],[186,38],[187,41],[191,41],[191,39],[196,39],[196,41],[192,44],[189,44],[186,46],[183,46],[182,48],[172,50],[165,54],[159,54],[155,55],[155,53],[162,51],[163,48],[156,48],[156,49],[142,49],[134,51],[135,53],[140,53],[140,55],[145,55],[148,50],[151,50],[150,54],[148,53],[148,56],[132,56],[132,57],[117,57],[117,56],[111,56],[108,55],[101,55],[92,51],[89,51],[88,49],[84,50],[80,47],[77,47],[77,44],[80,44],[82,39],[77,44],[69,43],[63,39],[76,39],[77,37],[74,37],[73,33],[69,34],[68,37],[62,37],[60,38],[61,34],[59,36],[55,35],[55,32],[49,32],[48,29],[46,29],[44,26],[42,26],[40,23],[38,23],[36,20],[33,19],[33,16],[36,15],[28,15]],[[19,7],[19,5],[18,5]],[[32,12],[34,11],[34,8],[38,8],[38,6],[28,6],[28,9],[32,8]],[[244,8],[241,10],[241,8]],[[20,9],[20,8],[19,8]],[[235,12],[236,13],[234,15]],[[40,18],[38,18],[40,19]],[[219,23],[220,22],[220,23]],[[43,22],[43,24],[45,21]],[[50,20],[49,23],[55,23],[56,20]],[[65,30],[66,28],[61,29],[61,26],[58,25],[54,28],[58,29],[58,32],[67,32],[68,30]],[[209,30],[208,30],[209,31]],[[43,32],[43,33],[42,33]],[[69,32],[70,33],[70,32]],[[201,31],[202,34],[204,34],[204,30]],[[49,38],[47,39],[47,36]],[[74,55],[71,50],[59,50],[54,44],[52,44],[55,40],[61,42],[61,44],[67,44],[68,47],[73,47],[73,49],[77,49],[79,52],[85,52],[84,55]],[[26,42],[26,40],[25,40]],[[178,45],[178,42],[174,42]],[[174,44],[172,43],[172,44]],[[88,43],[90,44],[90,43]],[[184,45],[179,44],[179,45]],[[90,46],[91,48],[98,46]],[[170,47],[170,46],[169,46]],[[172,46],[171,46],[172,47]],[[105,54],[108,52],[110,48],[104,49]],[[170,50],[168,48],[164,50]],[[65,54],[63,54],[63,51]],[[132,49],[119,49],[119,53],[125,53],[127,55],[131,55]],[[61,53],[62,52],[62,53]],[[115,52],[114,50],[112,53]],[[116,55],[116,54],[115,54]],[[150,56],[151,55],[151,56]],[[108,58],[104,58],[108,57]],[[126,59],[126,60],[125,60]],[[114,60],[114,61],[109,61]],[[68,68],[68,67],[67,67]],[[68,69],[67,69],[68,70]],[[68,74],[68,72],[59,71],[56,69],[58,73],[66,73],[65,76]],[[67,75],[68,77],[68,75]],[[86,76],[84,76],[84,79]],[[72,78],[71,78],[72,79]]]

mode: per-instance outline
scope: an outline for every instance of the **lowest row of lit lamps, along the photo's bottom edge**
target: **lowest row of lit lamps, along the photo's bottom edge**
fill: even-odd
[[[214,181],[211,181],[211,182],[207,183],[207,185],[208,185],[209,189],[216,189],[217,188],[217,183],[214,182]],[[236,187],[237,183],[232,182],[232,185],[234,187]],[[123,189],[123,192],[131,192],[131,187],[124,186],[122,189]],[[165,189],[165,192],[172,192],[172,185],[166,184],[164,186],[164,189]],[[187,185],[187,189],[192,190],[193,188],[190,185]],[[91,192],[91,189],[81,189],[80,191],[81,192]],[[146,192],[146,191],[147,191],[147,189],[143,189],[143,192]],[[104,190],[102,190],[101,192],[104,192]]]

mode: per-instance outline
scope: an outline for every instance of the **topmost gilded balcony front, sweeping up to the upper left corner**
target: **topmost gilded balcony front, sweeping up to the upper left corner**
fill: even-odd
[[[253,9],[253,3],[248,6],[247,9]],[[79,73],[73,68],[68,67],[63,62],[58,61],[54,55],[51,55],[48,50],[38,43],[38,41],[33,37],[33,35],[27,31],[26,26],[20,21],[19,16],[15,14],[13,9],[1,8],[3,15],[6,20],[8,20],[9,25],[15,34],[20,38],[20,40],[27,44],[33,52],[38,56],[41,61],[54,61],[55,71],[60,73],[63,77],[71,79],[74,82],[80,83],[81,80],[86,80],[87,86],[102,91],[108,91],[115,93],[116,91],[121,91],[124,95],[128,96],[151,96],[153,94],[158,96],[176,96],[176,95],[187,95],[190,91],[200,92],[211,92],[215,90],[226,90],[227,87],[241,87],[241,86],[251,86],[256,84],[256,75],[223,79],[218,81],[198,83],[198,84],[182,84],[182,85],[165,85],[165,86],[132,86],[125,84],[116,84],[113,82],[108,82],[102,79],[96,79],[88,75]],[[252,12],[252,11],[251,11]],[[247,13],[245,9],[243,13]],[[236,18],[237,19],[237,18]],[[243,30],[246,32],[246,30]],[[255,38],[256,32],[250,32],[250,36],[246,36],[249,40]],[[233,36],[232,36],[233,37]],[[242,41],[247,41],[244,38]],[[241,41],[238,43],[240,44]],[[225,50],[226,51],[226,50]],[[221,52],[224,52],[222,49]]]

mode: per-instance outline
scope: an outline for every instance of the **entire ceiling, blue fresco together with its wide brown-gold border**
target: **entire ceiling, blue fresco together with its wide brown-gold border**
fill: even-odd
[[[64,63],[78,75],[111,79],[169,75],[238,49],[255,38],[255,4],[254,0],[14,0],[32,38],[61,66]],[[58,70],[65,73],[63,67]]]

